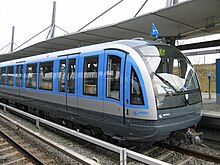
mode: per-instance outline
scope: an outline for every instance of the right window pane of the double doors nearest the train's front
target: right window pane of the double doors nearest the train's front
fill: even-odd
[[[75,67],[76,59],[69,60],[68,64],[68,93],[75,93]]]

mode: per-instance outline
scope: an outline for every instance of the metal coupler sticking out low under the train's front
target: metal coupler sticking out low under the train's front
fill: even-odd
[[[185,140],[189,144],[200,144],[203,142],[203,132],[196,132],[193,128],[188,128]]]

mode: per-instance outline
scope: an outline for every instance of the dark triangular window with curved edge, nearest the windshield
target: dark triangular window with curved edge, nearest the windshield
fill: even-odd
[[[130,102],[135,105],[144,105],[143,93],[141,84],[138,79],[137,73],[134,68],[131,68],[131,79],[130,79]]]

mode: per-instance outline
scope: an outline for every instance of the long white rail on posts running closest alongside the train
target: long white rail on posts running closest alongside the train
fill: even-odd
[[[113,152],[118,153],[118,154],[120,154],[120,165],[126,165],[127,164],[127,157],[132,158],[132,159],[134,159],[134,160],[136,160],[138,162],[142,162],[142,163],[146,163],[146,164],[151,164],[151,165],[169,165],[169,163],[166,163],[166,162],[163,162],[163,161],[151,158],[151,157],[146,156],[146,155],[142,155],[140,153],[128,150],[126,148],[122,148],[122,147],[116,146],[114,144],[102,141],[100,139],[96,139],[94,137],[85,135],[85,134],[77,132],[75,130],[71,130],[69,128],[66,128],[66,127],[63,127],[61,125],[55,124],[55,123],[50,122],[48,120],[42,119],[40,117],[31,115],[31,114],[28,114],[28,113],[23,112],[21,110],[18,110],[18,109],[14,108],[14,107],[11,107],[9,105],[3,104],[3,103],[0,103],[0,105],[3,106],[3,110],[5,112],[6,112],[7,109],[10,109],[10,110],[12,110],[14,112],[17,112],[17,113],[19,113],[21,115],[24,115],[26,117],[29,117],[29,118],[35,120],[36,121],[36,127],[38,127],[38,128],[40,128],[40,123],[43,123],[43,124],[45,124],[47,126],[55,128],[55,129],[57,129],[59,131],[65,132],[65,133],[70,134],[72,136],[78,137],[80,139],[83,139],[83,140],[88,141],[90,143],[93,143],[95,145],[98,145],[100,147],[103,147],[103,148],[106,148],[108,150],[111,150]]]

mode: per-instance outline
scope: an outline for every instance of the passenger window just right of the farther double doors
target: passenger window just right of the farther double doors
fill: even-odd
[[[27,64],[26,87],[36,88],[37,86],[37,64]]]

